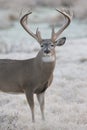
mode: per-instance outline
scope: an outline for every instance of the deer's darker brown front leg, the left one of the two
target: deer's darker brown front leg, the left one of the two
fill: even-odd
[[[26,90],[25,91],[26,94],[26,98],[28,100],[30,109],[31,109],[31,113],[32,113],[32,122],[35,122],[35,117],[34,117],[34,95],[32,92]]]

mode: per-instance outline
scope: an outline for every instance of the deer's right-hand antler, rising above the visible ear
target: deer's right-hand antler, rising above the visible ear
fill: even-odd
[[[57,37],[69,26],[71,20],[72,20],[72,12],[70,12],[69,10],[64,10],[64,11],[61,11],[61,10],[58,10],[56,9],[59,13],[61,13],[65,19],[66,19],[66,23],[60,28],[60,30],[58,32],[55,33],[54,31],[54,27],[52,28],[52,41],[55,42],[55,40],[57,39]]]

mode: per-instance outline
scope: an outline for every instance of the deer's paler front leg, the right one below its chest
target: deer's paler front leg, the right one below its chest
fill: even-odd
[[[45,118],[44,118],[44,95],[45,95],[45,92],[37,94],[37,99],[39,101],[41,114],[42,114],[42,120],[45,120]]]

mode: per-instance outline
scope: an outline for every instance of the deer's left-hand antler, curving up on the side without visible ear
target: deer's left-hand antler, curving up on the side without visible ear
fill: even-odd
[[[28,32],[33,38],[35,38],[39,43],[42,41],[40,31],[38,31],[38,28],[36,29],[36,34],[34,34],[27,26],[27,18],[28,15],[30,15],[32,12],[29,12],[25,14],[21,19],[20,23],[22,27],[25,29],[26,32]]]

